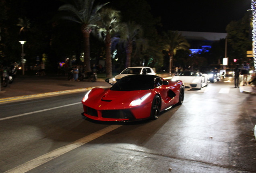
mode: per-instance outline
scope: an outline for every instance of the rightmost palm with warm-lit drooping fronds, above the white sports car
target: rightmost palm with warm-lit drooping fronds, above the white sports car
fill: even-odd
[[[169,74],[171,75],[173,56],[176,54],[177,50],[189,50],[190,44],[178,31],[173,32],[169,30],[167,32],[163,32],[163,40],[163,48],[167,51],[170,58]]]

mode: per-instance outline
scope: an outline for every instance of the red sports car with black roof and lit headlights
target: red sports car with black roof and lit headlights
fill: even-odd
[[[82,115],[99,121],[155,120],[161,111],[182,104],[183,100],[182,81],[134,74],[121,78],[109,89],[88,91],[82,101]]]

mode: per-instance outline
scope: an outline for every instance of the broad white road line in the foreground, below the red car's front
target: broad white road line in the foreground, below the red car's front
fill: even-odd
[[[106,127],[105,129],[101,129],[100,131],[97,131],[95,133],[92,133],[91,135],[88,135],[86,137],[78,139],[77,141],[74,141],[68,145],[65,145],[63,147],[60,147],[60,148],[54,150],[54,151],[46,153],[46,154],[44,154],[40,157],[37,157],[31,161],[28,161],[22,165],[14,167],[13,169],[10,169],[4,173],[25,173],[31,169],[34,169],[35,167],[38,167],[38,166],[52,160],[52,159],[55,159],[56,157],[58,157],[60,155],[67,153],[68,151],[76,149],[77,147],[80,147],[81,145],[84,145],[98,137],[101,137],[102,135],[105,135],[106,133],[109,133],[110,131],[113,131],[121,126],[122,125],[111,125],[109,127]]]

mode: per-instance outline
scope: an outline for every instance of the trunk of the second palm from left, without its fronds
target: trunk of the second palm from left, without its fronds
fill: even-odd
[[[106,75],[107,75],[106,77],[112,78],[112,61],[111,61],[111,52],[110,52],[111,39],[108,32],[106,34],[105,46],[106,46]]]

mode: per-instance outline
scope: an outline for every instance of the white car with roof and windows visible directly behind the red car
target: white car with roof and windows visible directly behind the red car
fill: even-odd
[[[113,82],[117,82],[120,78],[124,76],[128,76],[130,74],[151,74],[155,75],[155,72],[152,68],[147,66],[136,66],[136,67],[128,67],[124,69],[120,74],[116,75],[113,78]]]

